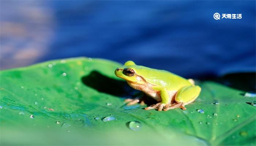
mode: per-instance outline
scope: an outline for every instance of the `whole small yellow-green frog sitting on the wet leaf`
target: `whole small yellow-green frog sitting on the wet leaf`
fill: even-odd
[[[114,73],[117,77],[123,78],[133,89],[144,92],[158,102],[144,108],[145,110],[167,111],[175,108],[186,110],[185,105],[194,102],[201,92],[201,88],[195,85],[193,79],[186,79],[166,70],[136,65],[133,61],[125,62]],[[139,102],[138,99],[134,101],[128,99],[128,101],[132,104]]]

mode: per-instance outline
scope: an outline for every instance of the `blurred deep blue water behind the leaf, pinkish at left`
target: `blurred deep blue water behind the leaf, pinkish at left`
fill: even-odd
[[[1,70],[80,56],[192,78],[256,69],[255,0],[1,0],[0,16]]]

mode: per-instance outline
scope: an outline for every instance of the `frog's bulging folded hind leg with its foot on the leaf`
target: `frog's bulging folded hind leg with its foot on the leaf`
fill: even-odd
[[[175,95],[176,103],[171,104],[169,107],[163,109],[164,111],[174,109],[174,108],[182,108],[186,110],[185,105],[192,103],[196,100],[201,92],[201,88],[199,86],[185,86],[182,87]]]

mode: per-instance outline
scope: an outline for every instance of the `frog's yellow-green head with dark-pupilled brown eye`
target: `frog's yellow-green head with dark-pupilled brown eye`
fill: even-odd
[[[133,61],[127,61],[124,66],[115,70],[115,74],[126,81],[143,84],[143,78],[137,74],[138,67]]]

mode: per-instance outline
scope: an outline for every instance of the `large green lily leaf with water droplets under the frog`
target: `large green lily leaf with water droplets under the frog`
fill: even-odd
[[[1,71],[0,144],[256,145],[256,106],[246,104],[255,97],[201,81],[186,111],[146,111],[124,103],[138,92],[114,75],[118,66],[71,58]],[[110,115],[116,120],[103,122]],[[141,123],[138,131],[129,129],[132,121]]]

